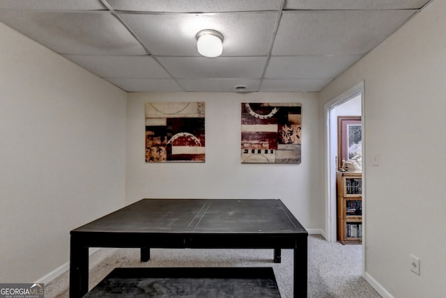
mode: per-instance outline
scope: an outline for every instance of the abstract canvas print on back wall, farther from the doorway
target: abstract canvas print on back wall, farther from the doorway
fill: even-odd
[[[146,163],[205,162],[204,102],[146,103]]]

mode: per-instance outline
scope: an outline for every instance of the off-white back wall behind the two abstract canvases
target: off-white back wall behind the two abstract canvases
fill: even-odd
[[[206,102],[206,163],[146,164],[144,104]],[[240,164],[242,102],[302,103],[301,164]],[[280,198],[305,228],[324,228],[314,93],[130,93],[127,203],[141,198]]]

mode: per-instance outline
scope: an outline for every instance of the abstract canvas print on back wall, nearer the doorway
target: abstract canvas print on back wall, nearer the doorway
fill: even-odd
[[[243,164],[300,164],[302,104],[242,103]]]

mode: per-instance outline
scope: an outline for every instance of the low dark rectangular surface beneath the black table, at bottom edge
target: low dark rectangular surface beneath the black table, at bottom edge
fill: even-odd
[[[271,267],[116,268],[84,297],[274,297]]]

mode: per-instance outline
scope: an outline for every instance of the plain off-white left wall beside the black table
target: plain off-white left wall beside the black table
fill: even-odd
[[[127,95],[2,23],[0,40],[0,282],[30,283],[124,205]]]

